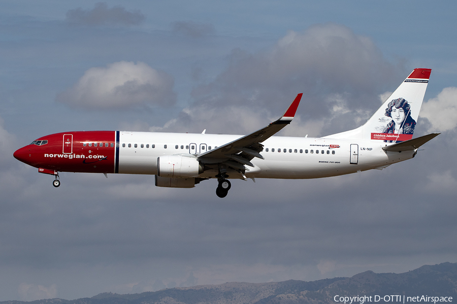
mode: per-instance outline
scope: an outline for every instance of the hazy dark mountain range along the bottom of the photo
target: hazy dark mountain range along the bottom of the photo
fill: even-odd
[[[401,273],[366,271],[313,282],[225,283],[137,294],[101,293],[75,300],[43,299],[0,304],[298,304],[457,301],[457,263],[424,265]],[[446,304],[447,304],[446,303]]]

